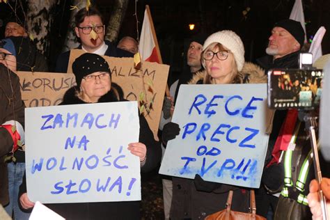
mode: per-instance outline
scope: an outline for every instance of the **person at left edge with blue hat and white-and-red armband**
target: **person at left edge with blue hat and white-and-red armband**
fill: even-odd
[[[29,214],[22,212],[17,203],[19,184],[22,183],[22,172],[24,173],[25,168],[24,164],[22,166],[19,163],[24,146],[25,106],[19,78],[13,72],[16,71],[16,58],[10,52],[13,47],[10,48],[3,41],[0,44],[0,203],[10,217],[14,213],[17,220],[29,219]],[[13,162],[7,164],[6,158],[15,158],[17,165]]]

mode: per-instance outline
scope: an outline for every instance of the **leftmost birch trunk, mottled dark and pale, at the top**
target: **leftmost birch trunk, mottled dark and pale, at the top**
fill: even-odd
[[[52,8],[57,0],[29,0],[27,28],[37,48],[45,54],[49,51],[49,32],[53,22]]]

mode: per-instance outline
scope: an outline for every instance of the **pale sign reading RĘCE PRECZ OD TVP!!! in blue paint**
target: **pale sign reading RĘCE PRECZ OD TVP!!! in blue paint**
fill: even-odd
[[[182,85],[159,173],[258,188],[269,136],[266,84]]]

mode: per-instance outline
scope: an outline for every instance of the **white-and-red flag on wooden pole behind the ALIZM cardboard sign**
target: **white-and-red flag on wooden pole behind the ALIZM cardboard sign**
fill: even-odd
[[[163,63],[148,5],[144,11],[141,37],[139,42],[139,52],[141,54],[142,61]]]

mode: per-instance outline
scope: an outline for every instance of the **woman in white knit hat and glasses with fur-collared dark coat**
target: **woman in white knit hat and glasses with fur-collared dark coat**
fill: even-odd
[[[265,72],[244,61],[244,45],[233,31],[218,31],[203,45],[202,64],[189,84],[265,83]],[[228,192],[234,190],[232,210],[249,212],[249,190],[228,184],[206,182],[196,175],[194,180],[173,178],[171,219],[204,219],[226,207]]]

